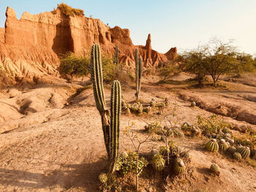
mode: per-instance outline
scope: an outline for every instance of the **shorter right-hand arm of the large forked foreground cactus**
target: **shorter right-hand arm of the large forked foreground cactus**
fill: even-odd
[[[120,115],[121,115],[121,85],[113,81],[111,88],[110,107],[110,172],[116,170],[116,158],[119,148]]]

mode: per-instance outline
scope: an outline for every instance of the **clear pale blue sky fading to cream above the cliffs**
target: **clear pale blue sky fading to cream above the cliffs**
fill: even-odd
[[[0,0],[0,27],[7,6],[19,19],[23,12],[51,11],[61,2],[110,27],[129,28],[135,45],[145,45],[151,33],[151,45],[160,53],[170,47],[181,52],[216,36],[235,39],[241,51],[256,54],[256,0]]]

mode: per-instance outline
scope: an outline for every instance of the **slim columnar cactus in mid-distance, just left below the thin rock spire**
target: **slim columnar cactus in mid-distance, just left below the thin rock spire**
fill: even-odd
[[[135,81],[136,81],[136,100],[139,98],[140,94],[140,84],[142,77],[142,58],[139,58],[138,49],[135,50]]]

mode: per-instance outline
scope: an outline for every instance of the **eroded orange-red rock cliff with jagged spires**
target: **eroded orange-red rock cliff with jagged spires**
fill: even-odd
[[[72,51],[83,55],[89,53],[94,43],[110,54],[118,45],[119,59],[127,67],[133,67],[136,47],[145,66],[158,66],[176,55],[176,49],[166,54],[152,50],[150,34],[146,46],[135,46],[129,29],[110,28],[99,19],[67,16],[60,9],[39,15],[24,12],[18,20],[15,10],[7,7],[6,16],[5,28],[0,28],[0,66],[15,80],[58,76],[60,53]]]

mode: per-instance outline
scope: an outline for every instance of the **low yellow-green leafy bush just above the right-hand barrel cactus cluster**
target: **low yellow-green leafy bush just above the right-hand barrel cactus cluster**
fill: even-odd
[[[231,128],[231,124],[224,120],[219,120],[217,115],[211,115],[209,118],[197,116],[197,126],[202,129],[202,134],[205,136],[218,134],[223,128]]]

